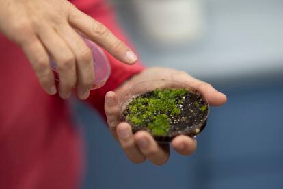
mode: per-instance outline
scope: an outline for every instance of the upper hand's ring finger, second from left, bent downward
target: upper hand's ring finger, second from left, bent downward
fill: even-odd
[[[42,27],[38,35],[55,60],[59,75],[59,95],[62,99],[68,99],[77,82],[75,56],[66,42],[50,27]]]

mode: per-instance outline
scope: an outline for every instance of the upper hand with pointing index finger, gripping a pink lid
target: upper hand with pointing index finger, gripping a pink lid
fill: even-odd
[[[77,32],[122,62],[137,60],[107,27],[67,0],[0,0],[0,31],[23,49],[42,88],[50,95],[57,89],[49,55],[55,60],[63,99],[70,97],[74,86],[79,98],[87,99],[94,80],[92,52]]]

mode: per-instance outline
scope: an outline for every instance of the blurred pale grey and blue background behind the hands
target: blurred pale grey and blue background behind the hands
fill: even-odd
[[[226,93],[198,149],[132,164],[107,125],[76,103],[87,144],[83,188],[283,188],[283,1],[113,0],[147,66],[187,71]],[[98,124],[99,123],[99,124]]]

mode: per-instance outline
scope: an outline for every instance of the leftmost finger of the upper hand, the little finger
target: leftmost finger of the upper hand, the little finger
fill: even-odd
[[[36,36],[33,36],[33,38],[22,45],[22,48],[31,62],[42,88],[44,88],[49,95],[55,95],[57,90],[54,75],[51,71],[49,57],[40,40],[36,38]]]

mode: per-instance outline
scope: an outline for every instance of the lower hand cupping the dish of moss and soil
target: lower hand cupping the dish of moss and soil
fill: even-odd
[[[172,79],[185,82],[202,92],[210,105],[224,104],[226,95],[218,92],[204,81],[195,79],[183,71],[176,71],[170,68],[148,68],[129,79],[129,81],[126,81],[116,92],[107,92],[105,96],[107,123],[111,134],[120,142],[127,157],[134,163],[142,163],[148,159],[153,164],[162,165],[167,162],[170,156],[169,145],[157,144],[154,138],[146,131],[137,131],[137,133],[133,134],[129,123],[120,123],[120,112],[118,110],[118,98],[126,88],[150,79]],[[172,140],[172,147],[180,155],[191,155],[196,150],[196,140],[189,136],[176,136]]]

